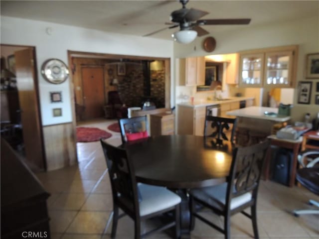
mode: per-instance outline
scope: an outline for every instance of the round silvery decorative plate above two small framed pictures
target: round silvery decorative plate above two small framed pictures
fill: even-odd
[[[52,84],[61,84],[69,76],[69,69],[66,64],[59,59],[48,59],[41,67],[43,78]]]

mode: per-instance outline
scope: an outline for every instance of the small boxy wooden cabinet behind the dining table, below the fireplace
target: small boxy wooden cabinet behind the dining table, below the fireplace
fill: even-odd
[[[174,134],[174,115],[160,113],[150,115],[150,118],[152,136]]]

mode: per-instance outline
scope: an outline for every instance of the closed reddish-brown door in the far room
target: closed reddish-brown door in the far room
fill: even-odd
[[[103,68],[83,67],[82,85],[84,119],[103,117],[103,106],[105,105]]]

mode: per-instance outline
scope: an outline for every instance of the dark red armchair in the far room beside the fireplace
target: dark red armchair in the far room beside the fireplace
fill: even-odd
[[[109,104],[104,107],[106,118],[127,118],[128,108],[123,104],[118,91],[109,91]]]

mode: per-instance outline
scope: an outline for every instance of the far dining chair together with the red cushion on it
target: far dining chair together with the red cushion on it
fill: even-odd
[[[147,138],[148,124],[147,116],[119,119],[122,143]]]

